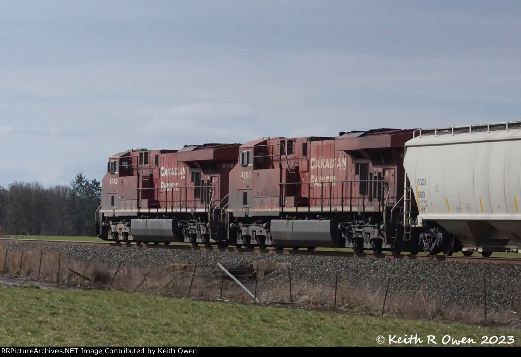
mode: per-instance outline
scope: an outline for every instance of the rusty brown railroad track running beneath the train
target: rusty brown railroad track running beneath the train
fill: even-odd
[[[179,249],[179,250],[205,250],[205,251],[221,251],[221,252],[250,252],[279,254],[289,256],[322,256],[322,257],[346,257],[346,258],[369,258],[369,259],[401,259],[401,260],[429,260],[441,262],[473,262],[473,263],[495,263],[495,264],[521,264],[521,258],[503,258],[503,257],[463,257],[463,256],[426,256],[422,254],[375,254],[375,253],[355,253],[350,251],[326,251],[326,250],[275,250],[275,249],[259,249],[259,248],[236,248],[236,247],[193,247],[191,245],[164,245],[164,244],[133,244],[133,243],[115,243],[111,241],[86,241],[86,240],[56,240],[56,239],[25,239],[25,238],[0,238],[0,241],[13,242],[34,242],[34,243],[50,243],[50,244],[81,244],[81,245],[98,245],[98,246],[114,246],[128,247],[132,249]]]

